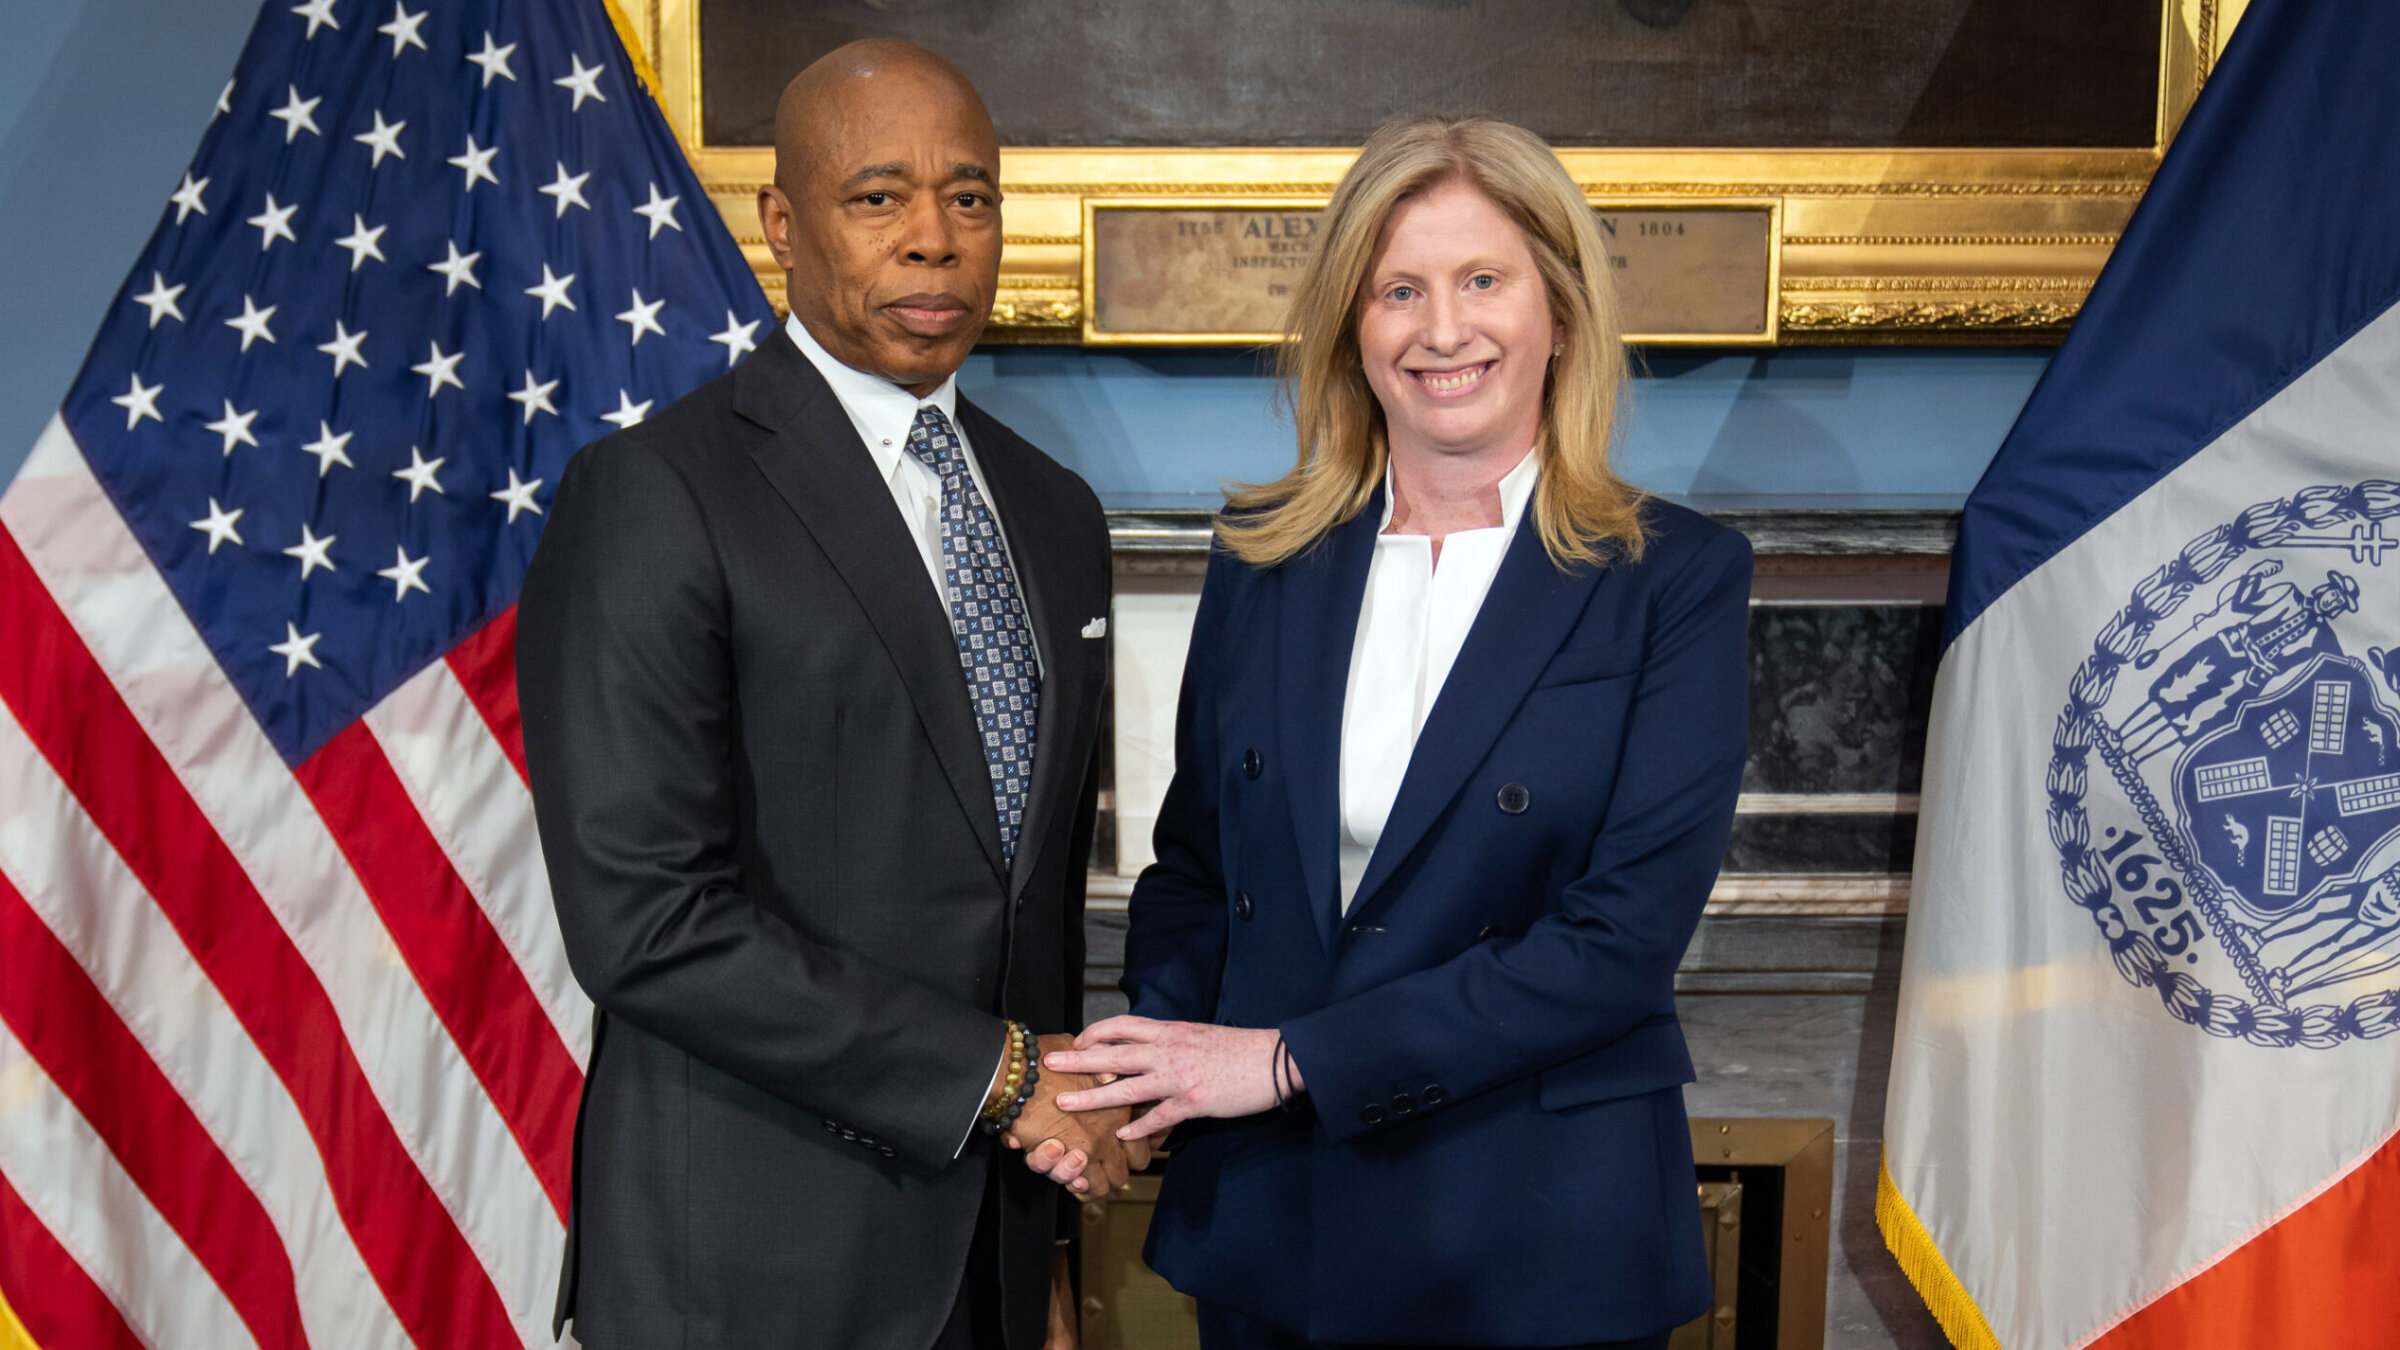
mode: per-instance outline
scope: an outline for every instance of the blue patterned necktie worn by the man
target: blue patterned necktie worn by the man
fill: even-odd
[[[967,456],[941,408],[917,408],[907,449],[941,478],[941,579],[950,601],[950,637],[967,670],[967,701],[984,735],[991,805],[1001,812],[1001,862],[1018,858],[1025,790],[1034,771],[1034,709],[1042,673],[1034,668],[1034,625],[1025,617],[1008,548],[974,490]]]

